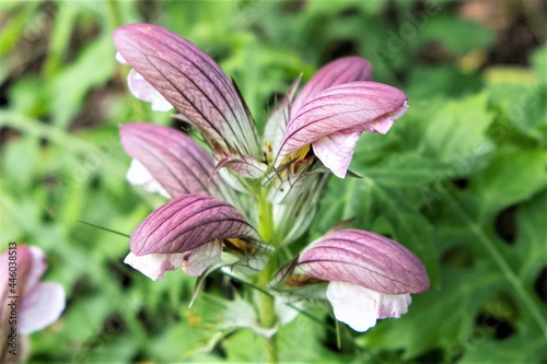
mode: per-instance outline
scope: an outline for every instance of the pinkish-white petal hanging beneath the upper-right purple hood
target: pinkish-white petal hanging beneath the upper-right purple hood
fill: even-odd
[[[337,177],[346,177],[362,128],[334,132],[313,142],[313,152]]]

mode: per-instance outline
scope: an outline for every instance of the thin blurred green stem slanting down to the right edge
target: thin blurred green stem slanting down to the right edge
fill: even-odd
[[[477,239],[490,254],[493,261],[496,261],[500,270],[503,272],[503,275],[505,275],[509,283],[513,286],[513,290],[516,292],[519,297],[522,300],[522,302],[528,309],[529,314],[536,320],[545,338],[547,338],[547,322],[545,320],[545,317],[542,315],[542,309],[536,305],[536,303],[526,292],[526,289],[522,284],[522,281],[513,272],[513,270],[507,262],[503,255],[496,247],[494,243],[485,234],[485,232],[480,228],[480,226],[475,221],[473,221],[469,214],[464,210],[464,208],[459,204],[459,202],[455,198],[447,197],[446,200],[452,210],[467,224],[469,230],[475,234],[475,236],[477,236]]]

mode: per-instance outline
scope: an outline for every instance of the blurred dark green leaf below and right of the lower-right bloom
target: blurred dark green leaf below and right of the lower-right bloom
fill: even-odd
[[[398,319],[380,320],[358,343],[376,349],[403,349],[406,360],[444,349],[450,361],[473,343],[479,309],[504,286],[503,277],[488,266],[444,268],[440,289],[412,295],[407,314]]]

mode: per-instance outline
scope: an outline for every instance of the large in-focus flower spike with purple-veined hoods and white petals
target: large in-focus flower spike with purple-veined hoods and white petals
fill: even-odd
[[[377,318],[405,314],[410,293],[429,289],[421,261],[374,233],[338,226],[290,253],[330,175],[351,175],[360,136],[386,133],[407,108],[404,92],[371,81],[366,60],[327,64],[294,97],[296,80],[260,138],[234,83],[187,39],[130,24],[116,30],[114,42],[118,61],[132,67],[130,92],[155,110],[176,108],[205,144],[162,126],[121,126],[133,158],[129,181],[170,199],[131,234],[127,263],[153,280],[182,268],[199,275],[196,292],[217,268],[258,287],[248,303],[258,317],[233,326],[270,340],[293,316],[284,303],[329,302],[337,320],[365,331]]]

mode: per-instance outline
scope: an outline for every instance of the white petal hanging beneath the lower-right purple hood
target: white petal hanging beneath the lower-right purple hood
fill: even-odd
[[[380,293],[352,283],[334,281],[327,287],[336,319],[360,332],[376,325],[379,296]]]

